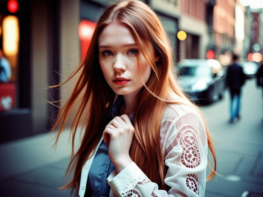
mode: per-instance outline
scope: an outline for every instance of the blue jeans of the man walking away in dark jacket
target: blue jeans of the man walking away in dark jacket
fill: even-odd
[[[231,102],[230,102],[230,115],[231,119],[239,116],[240,111],[240,88],[230,89],[231,92]]]

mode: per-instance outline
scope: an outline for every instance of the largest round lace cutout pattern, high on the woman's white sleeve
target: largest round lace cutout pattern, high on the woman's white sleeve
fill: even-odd
[[[183,149],[181,163],[188,168],[195,168],[201,163],[197,136],[195,128],[190,125],[183,126],[176,136]]]

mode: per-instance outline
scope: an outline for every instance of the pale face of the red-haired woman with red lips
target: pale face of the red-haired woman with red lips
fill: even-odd
[[[119,95],[135,96],[143,87],[141,79],[145,84],[148,81],[151,67],[138,51],[132,31],[124,23],[112,23],[100,33],[98,48],[100,67],[112,90]],[[154,55],[152,45],[151,51]],[[138,55],[142,60],[139,65],[141,79]]]

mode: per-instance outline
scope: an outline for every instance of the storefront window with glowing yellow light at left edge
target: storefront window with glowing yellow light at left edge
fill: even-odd
[[[0,111],[9,111],[18,106],[18,57],[19,19],[0,13]]]

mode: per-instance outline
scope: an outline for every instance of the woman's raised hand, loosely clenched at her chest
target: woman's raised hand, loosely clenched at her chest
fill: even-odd
[[[129,150],[134,136],[134,127],[128,115],[116,116],[104,129],[104,142],[109,144],[109,157],[119,173],[132,163]]]

